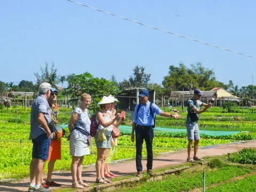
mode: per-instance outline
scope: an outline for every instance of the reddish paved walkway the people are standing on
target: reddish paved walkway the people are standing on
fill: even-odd
[[[214,155],[223,155],[227,153],[234,153],[243,148],[256,148],[256,140],[252,141],[242,141],[242,142],[234,142],[228,143],[225,145],[215,145],[215,146],[207,146],[201,147],[199,149],[199,156],[214,156]],[[117,149],[118,150],[118,149]],[[182,149],[175,153],[165,153],[158,155],[154,158],[153,162],[153,171],[154,169],[160,169],[165,166],[175,166],[179,164],[186,163],[187,159],[187,150]],[[143,159],[143,172],[146,171],[146,163],[147,160]],[[110,165],[110,169],[113,173],[118,175],[134,175],[136,172],[135,161],[116,161]],[[96,179],[95,166],[90,166],[83,169],[82,173],[83,180],[87,183],[94,183]],[[59,188],[65,189],[71,187],[71,174],[68,172],[54,172],[53,180],[61,183],[62,186]],[[19,182],[4,182],[0,183],[0,191],[27,191],[29,186],[29,178],[23,179]],[[51,188],[54,189],[54,188]]]

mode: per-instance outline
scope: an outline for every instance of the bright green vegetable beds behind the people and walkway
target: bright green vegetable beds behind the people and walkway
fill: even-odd
[[[60,124],[67,124],[72,109],[60,109]],[[166,109],[164,109],[166,110]],[[169,109],[167,109],[169,110]],[[248,110],[249,111],[249,110]],[[29,141],[30,132],[30,109],[9,108],[0,110],[0,180],[7,178],[25,178],[29,175],[29,163],[31,160],[32,143]],[[174,129],[185,129],[185,118],[187,113],[181,111],[180,120],[157,116],[158,127],[172,127]],[[251,140],[256,138],[254,123],[256,117],[251,113],[222,113],[220,108],[212,108],[200,117],[199,127],[201,130],[217,131],[246,131],[234,135],[214,136],[202,135],[200,146],[228,143],[239,140]],[[124,125],[129,125],[127,120]],[[65,128],[68,132],[68,129]],[[247,132],[249,131],[249,132]],[[55,170],[69,170],[71,156],[69,155],[69,142],[66,138],[61,141],[61,160],[55,164]],[[175,151],[187,147],[186,134],[181,133],[156,133],[153,141],[154,154]],[[129,133],[123,133],[118,138],[118,149],[115,159],[135,157],[135,144],[130,140]],[[95,163],[96,148],[91,148],[91,155],[85,156],[84,165]],[[94,152],[94,155],[92,155]],[[146,155],[146,148],[143,148],[142,155]],[[45,166],[45,171],[46,171]]]

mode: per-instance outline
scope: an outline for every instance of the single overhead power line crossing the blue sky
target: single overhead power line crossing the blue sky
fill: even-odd
[[[107,13],[107,14],[110,14],[110,15],[112,15],[112,16],[115,16],[115,17],[118,17],[118,18],[121,18],[121,19],[124,19],[124,20],[127,20],[127,21],[131,21],[131,22],[137,23],[137,24],[139,24],[139,25],[143,25],[143,26],[146,26],[146,27],[149,27],[149,28],[152,28],[152,29],[160,30],[160,31],[163,31],[163,32],[165,32],[165,33],[172,34],[172,35],[175,35],[175,36],[178,36],[178,37],[186,38],[186,39],[189,39],[189,40],[191,40],[191,41],[195,41],[195,42],[197,42],[197,43],[202,43],[202,44],[205,44],[205,45],[209,45],[209,46],[216,47],[216,48],[218,48],[218,49],[222,49],[222,50],[225,50],[225,51],[233,52],[233,53],[236,53],[236,54],[241,54],[241,55],[244,55],[244,56],[246,56],[246,57],[250,57],[250,58],[256,59],[256,57],[253,57],[253,56],[251,56],[251,55],[247,55],[247,54],[240,53],[240,52],[237,52],[237,51],[232,51],[232,50],[229,50],[229,49],[226,49],[226,48],[217,46],[217,45],[213,45],[213,44],[210,44],[210,43],[198,41],[198,40],[196,40],[196,39],[189,38],[189,37],[185,37],[185,36],[179,35],[179,34],[175,34],[175,33],[172,33],[171,31],[163,30],[163,29],[160,29],[160,28],[157,28],[157,27],[154,27],[154,26],[149,26],[149,25],[144,24],[144,23],[141,23],[141,22],[139,22],[139,21],[135,21],[135,20],[131,20],[131,19],[128,19],[128,18],[125,18],[125,17],[121,17],[121,16],[116,15],[116,14],[114,14],[114,13],[102,11],[102,10],[99,10],[99,9],[97,9],[97,8],[91,7],[91,6],[89,6],[89,5],[85,5],[85,4],[78,3],[78,2],[75,2],[75,1],[71,1],[71,0],[67,0],[67,1],[76,3],[76,4],[78,4],[78,5],[82,5],[82,6],[88,7],[88,8],[90,8],[90,9],[95,10],[95,11],[100,11],[100,12],[103,12],[103,13]]]

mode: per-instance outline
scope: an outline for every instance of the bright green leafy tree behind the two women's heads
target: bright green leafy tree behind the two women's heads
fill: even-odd
[[[99,106],[97,103],[103,95],[115,95],[119,93],[119,89],[114,85],[114,82],[108,81],[105,78],[93,77],[90,73],[81,75],[71,74],[67,76],[68,87],[67,94],[72,98],[79,98],[82,93],[89,93],[92,97],[90,108],[96,111]],[[77,104],[77,100],[71,100]]]

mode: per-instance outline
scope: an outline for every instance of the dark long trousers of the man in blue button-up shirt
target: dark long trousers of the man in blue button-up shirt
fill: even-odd
[[[141,153],[143,140],[145,139],[146,147],[147,147],[147,170],[151,170],[153,166],[153,138],[154,138],[154,130],[149,127],[138,127],[135,128],[135,137],[136,137],[136,168],[137,171],[142,171],[142,163],[141,163]]]

